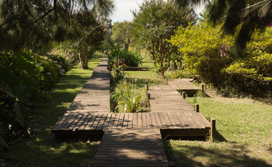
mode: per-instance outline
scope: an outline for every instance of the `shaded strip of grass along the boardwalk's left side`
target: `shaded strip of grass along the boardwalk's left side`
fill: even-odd
[[[88,64],[89,70],[73,67],[60,79],[52,92],[52,103],[44,104],[33,113],[34,136],[10,145],[8,152],[0,154],[8,161],[8,166],[78,166],[94,157],[98,142],[57,143],[50,130],[66,112],[100,61],[101,58],[92,59]]]

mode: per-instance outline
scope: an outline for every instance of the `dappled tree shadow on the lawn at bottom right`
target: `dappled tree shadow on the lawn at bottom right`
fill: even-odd
[[[262,159],[248,156],[246,145],[228,143],[224,145],[205,145],[185,143],[172,145],[166,141],[169,159],[176,161],[176,166],[270,166]]]

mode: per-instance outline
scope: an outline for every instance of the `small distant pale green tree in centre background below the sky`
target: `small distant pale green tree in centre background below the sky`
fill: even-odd
[[[131,40],[131,22],[116,22],[113,25],[113,40],[117,42],[118,45],[123,46],[123,49],[129,49],[129,44]]]

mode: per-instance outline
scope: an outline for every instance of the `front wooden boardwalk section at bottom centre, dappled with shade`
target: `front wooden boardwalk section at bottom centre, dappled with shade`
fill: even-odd
[[[168,166],[159,129],[106,131],[90,166]]]

